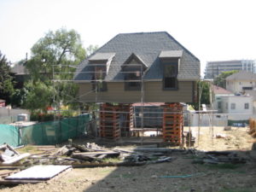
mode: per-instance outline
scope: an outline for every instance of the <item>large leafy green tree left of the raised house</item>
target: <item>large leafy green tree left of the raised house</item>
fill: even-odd
[[[90,46],[89,50],[92,49],[94,46]],[[27,84],[26,108],[44,111],[50,105],[57,108],[61,104],[76,106],[78,102],[74,98],[78,95],[78,85],[65,80],[73,79],[75,67],[85,56],[79,33],[74,30],[61,28],[40,38],[32,46],[32,57],[26,63],[32,79]],[[44,96],[40,96],[41,91],[44,91]]]

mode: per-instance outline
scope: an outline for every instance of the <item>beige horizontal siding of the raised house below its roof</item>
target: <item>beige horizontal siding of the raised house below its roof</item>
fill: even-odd
[[[163,90],[162,82],[144,83],[144,102],[192,102],[192,82],[179,82],[178,90]],[[108,91],[91,92],[91,84],[79,84],[83,102],[141,102],[141,90],[125,90],[124,83],[108,83]]]

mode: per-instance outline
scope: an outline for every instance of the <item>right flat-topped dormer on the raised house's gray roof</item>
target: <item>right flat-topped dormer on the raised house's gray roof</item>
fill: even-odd
[[[177,90],[177,74],[183,50],[162,50],[159,55],[163,67],[163,90]]]

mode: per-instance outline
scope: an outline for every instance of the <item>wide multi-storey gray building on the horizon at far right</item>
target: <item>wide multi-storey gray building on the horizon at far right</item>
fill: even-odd
[[[256,72],[253,60],[209,61],[205,70],[205,79],[214,79],[220,73],[232,70]]]

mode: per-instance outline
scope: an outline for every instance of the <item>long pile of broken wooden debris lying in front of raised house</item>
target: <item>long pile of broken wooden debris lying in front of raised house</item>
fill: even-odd
[[[70,144],[59,148],[54,154],[32,155],[22,166],[72,165],[72,166],[140,166],[171,161],[172,157],[160,148],[155,151],[128,151],[122,148],[102,148],[95,143]]]

